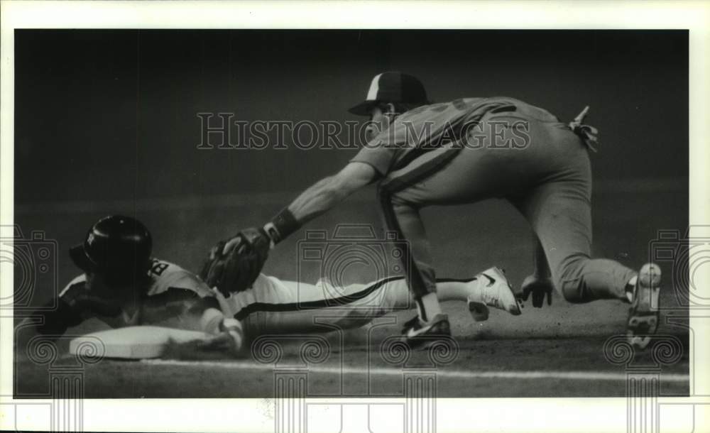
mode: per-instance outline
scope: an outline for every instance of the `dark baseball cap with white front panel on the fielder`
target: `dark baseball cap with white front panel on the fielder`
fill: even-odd
[[[400,102],[403,104],[430,104],[424,84],[413,75],[389,71],[375,75],[370,83],[366,99],[348,111],[359,116],[367,116],[370,109],[380,102]]]

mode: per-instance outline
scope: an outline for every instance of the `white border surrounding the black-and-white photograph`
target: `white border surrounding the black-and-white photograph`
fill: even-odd
[[[688,29],[690,224],[710,224],[710,3],[702,1],[1,1],[1,224],[13,223],[13,31],[16,28],[514,28]],[[324,9],[326,12],[324,13]],[[396,17],[396,19],[393,19]],[[709,275],[701,275],[710,283]],[[11,296],[12,273],[1,275]],[[702,285],[702,284],[701,284]],[[702,285],[710,287],[710,284]],[[2,319],[3,325],[12,324]],[[695,341],[708,341],[709,319],[690,320]],[[12,326],[0,327],[0,429],[42,429],[41,415],[17,411],[46,400],[13,400]],[[710,348],[692,348],[694,396],[659,398],[677,405],[661,431],[710,431],[707,413]],[[348,399],[357,402],[397,399]],[[344,402],[309,399],[309,402]],[[85,400],[87,431],[273,431],[262,399]],[[14,411],[10,413],[10,411]],[[625,398],[439,399],[437,431],[619,432],[627,427]],[[187,414],[187,415],[186,415]],[[26,417],[18,420],[18,417]],[[689,420],[688,417],[694,417]],[[21,421],[21,424],[17,422]],[[704,423],[699,424],[699,423]],[[311,426],[309,426],[311,427]],[[313,425],[318,431],[328,426]],[[691,431],[691,430],[684,430]]]

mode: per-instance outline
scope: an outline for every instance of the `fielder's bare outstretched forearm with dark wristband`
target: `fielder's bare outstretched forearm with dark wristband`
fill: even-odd
[[[349,163],[336,175],[319,180],[302,192],[286,209],[264,226],[278,243],[303,224],[342,202],[353,192],[376,180],[376,170],[366,163]]]

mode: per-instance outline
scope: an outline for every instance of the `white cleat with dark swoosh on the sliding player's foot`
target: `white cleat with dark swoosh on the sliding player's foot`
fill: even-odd
[[[468,300],[469,312],[476,322],[488,319],[488,307],[502,309],[513,316],[520,314],[518,298],[515,297],[513,287],[500,268],[484,270],[469,284],[478,285],[476,291],[479,293],[470,295]]]

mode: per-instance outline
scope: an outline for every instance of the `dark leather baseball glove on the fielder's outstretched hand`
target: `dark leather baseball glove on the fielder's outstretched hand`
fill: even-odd
[[[200,278],[209,287],[217,287],[224,296],[244,291],[261,273],[270,248],[271,238],[263,229],[242,230],[212,247]]]

